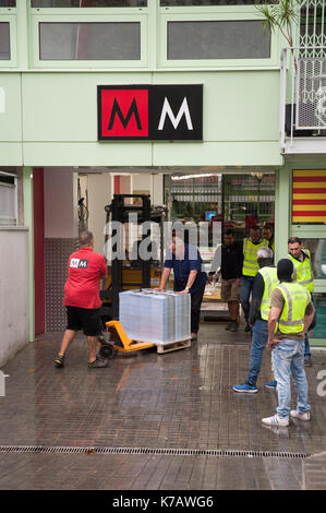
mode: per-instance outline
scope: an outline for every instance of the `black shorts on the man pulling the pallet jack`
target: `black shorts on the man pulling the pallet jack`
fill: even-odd
[[[67,330],[83,330],[86,336],[97,336],[101,332],[99,308],[67,307]]]

